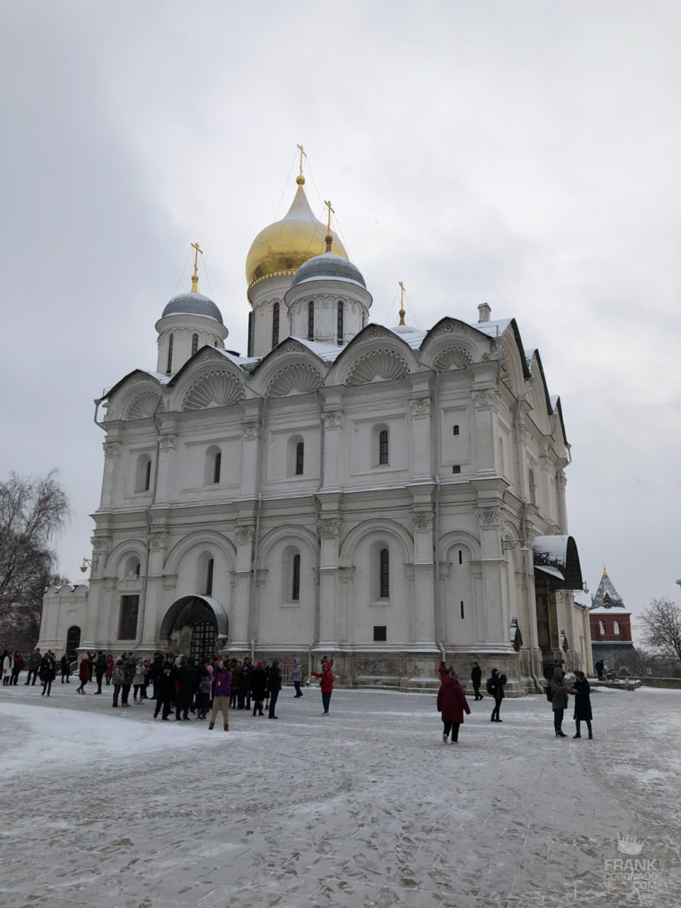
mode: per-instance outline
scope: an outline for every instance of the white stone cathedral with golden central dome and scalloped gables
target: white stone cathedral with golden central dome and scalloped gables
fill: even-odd
[[[89,587],[48,590],[39,646],[326,655],[341,684],[402,688],[477,660],[508,693],[555,659],[590,669],[538,350],[487,304],[472,324],[372,324],[304,182],[248,255],[248,356],[194,269],[156,322],[156,369],[96,401]]]

